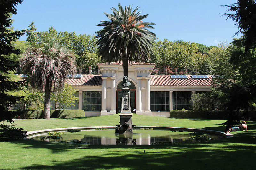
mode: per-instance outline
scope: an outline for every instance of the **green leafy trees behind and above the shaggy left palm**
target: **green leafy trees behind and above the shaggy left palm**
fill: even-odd
[[[38,44],[48,36],[56,37],[58,41],[70,49],[76,56],[76,66],[88,70],[89,67],[98,68],[97,62],[100,62],[97,52],[97,39],[94,36],[79,34],[75,32],[57,32],[50,27],[48,31],[36,32],[34,22],[29,25],[27,30],[27,41],[30,44]]]

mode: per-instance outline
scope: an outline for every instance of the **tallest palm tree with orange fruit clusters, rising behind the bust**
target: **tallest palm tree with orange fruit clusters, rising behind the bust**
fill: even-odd
[[[124,76],[128,77],[128,65],[132,60],[148,62],[154,38],[156,35],[147,28],[152,28],[154,23],[143,22],[147,15],[137,12],[139,7],[132,11],[131,6],[123,7],[118,4],[119,10],[112,8],[113,14],[104,14],[110,21],[101,21],[96,26],[104,26],[96,32],[99,56],[110,62],[122,61]]]

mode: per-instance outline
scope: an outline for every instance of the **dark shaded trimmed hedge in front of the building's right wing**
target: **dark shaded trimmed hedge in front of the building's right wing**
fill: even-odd
[[[188,119],[227,119],[226,110],[171,110],[170,117],[188,118]],[[254,120],[256,119],[256,110],[243,111],[238,113],[239,119]]]

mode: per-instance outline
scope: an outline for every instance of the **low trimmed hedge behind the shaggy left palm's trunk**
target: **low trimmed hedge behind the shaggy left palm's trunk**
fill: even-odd
[[[14,119],[42,119],[44,110],[13,110],[15,112]],[[52,109],[50,110],[51,118],[75,118],[84,117],[84,110],[81,109]]]

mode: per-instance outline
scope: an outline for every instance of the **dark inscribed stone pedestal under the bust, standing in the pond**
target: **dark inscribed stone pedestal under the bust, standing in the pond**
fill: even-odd
[[[120,116],[119,134],[133,134],[132,132],[132,113],[130,107],[130,89],[122,90],[122,109]]]

